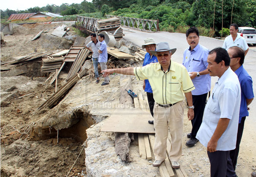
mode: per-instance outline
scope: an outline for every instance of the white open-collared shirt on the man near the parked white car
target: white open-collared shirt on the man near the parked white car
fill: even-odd
[[[233,46],[242,48],[244,51],[246,51],[249,48],[246,40],[243,37],[237,35],[235,41],[233,41],[232,36],[229,35],[228,37],[225,38],[222,48],[228,50]]]

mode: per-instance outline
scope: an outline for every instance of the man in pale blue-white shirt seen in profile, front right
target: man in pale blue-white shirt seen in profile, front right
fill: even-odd
[[[207,147],[211,177],[236,177],[230,150],[236,148],[241,87],[231,70],[230,57],[224,48],[215,48],[207,59],[210,76],[218,76],[204,109],[203,122],[196,138]]]

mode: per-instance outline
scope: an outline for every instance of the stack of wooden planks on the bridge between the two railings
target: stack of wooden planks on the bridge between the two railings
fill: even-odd
[[[117,17],[97,21],[97,29],[99,32],[108,31],[111,34],[114,34],[114,37],[117,40],[124,36],[122,28],[120,27],[121,22],[120,19]]]

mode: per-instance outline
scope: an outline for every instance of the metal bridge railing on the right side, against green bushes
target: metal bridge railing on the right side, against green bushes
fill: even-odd
[[[118,17],[121,20],[122,25],[138,28],[148,31],[160,31],[159,30],[159,20],[148,20],[142,18],[131,18],[131,17],[121,17],[115,15],[106,15],[106,17]]]

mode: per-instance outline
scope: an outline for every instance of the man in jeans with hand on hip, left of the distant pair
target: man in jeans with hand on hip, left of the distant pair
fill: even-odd
[[[93,67],[94,67],[94,74],[95,74],[95,78],[97,79],[96,84],[98,84],[99,83],[99,72],[98,72],[99,51],[98,50],[100,47],[100,42],[96,37],[97,36],[95,33],[90,34],[90,38],[92,41],[90,41],[86,45],[86,48],[93,53],[92,61],[93,61]]]

